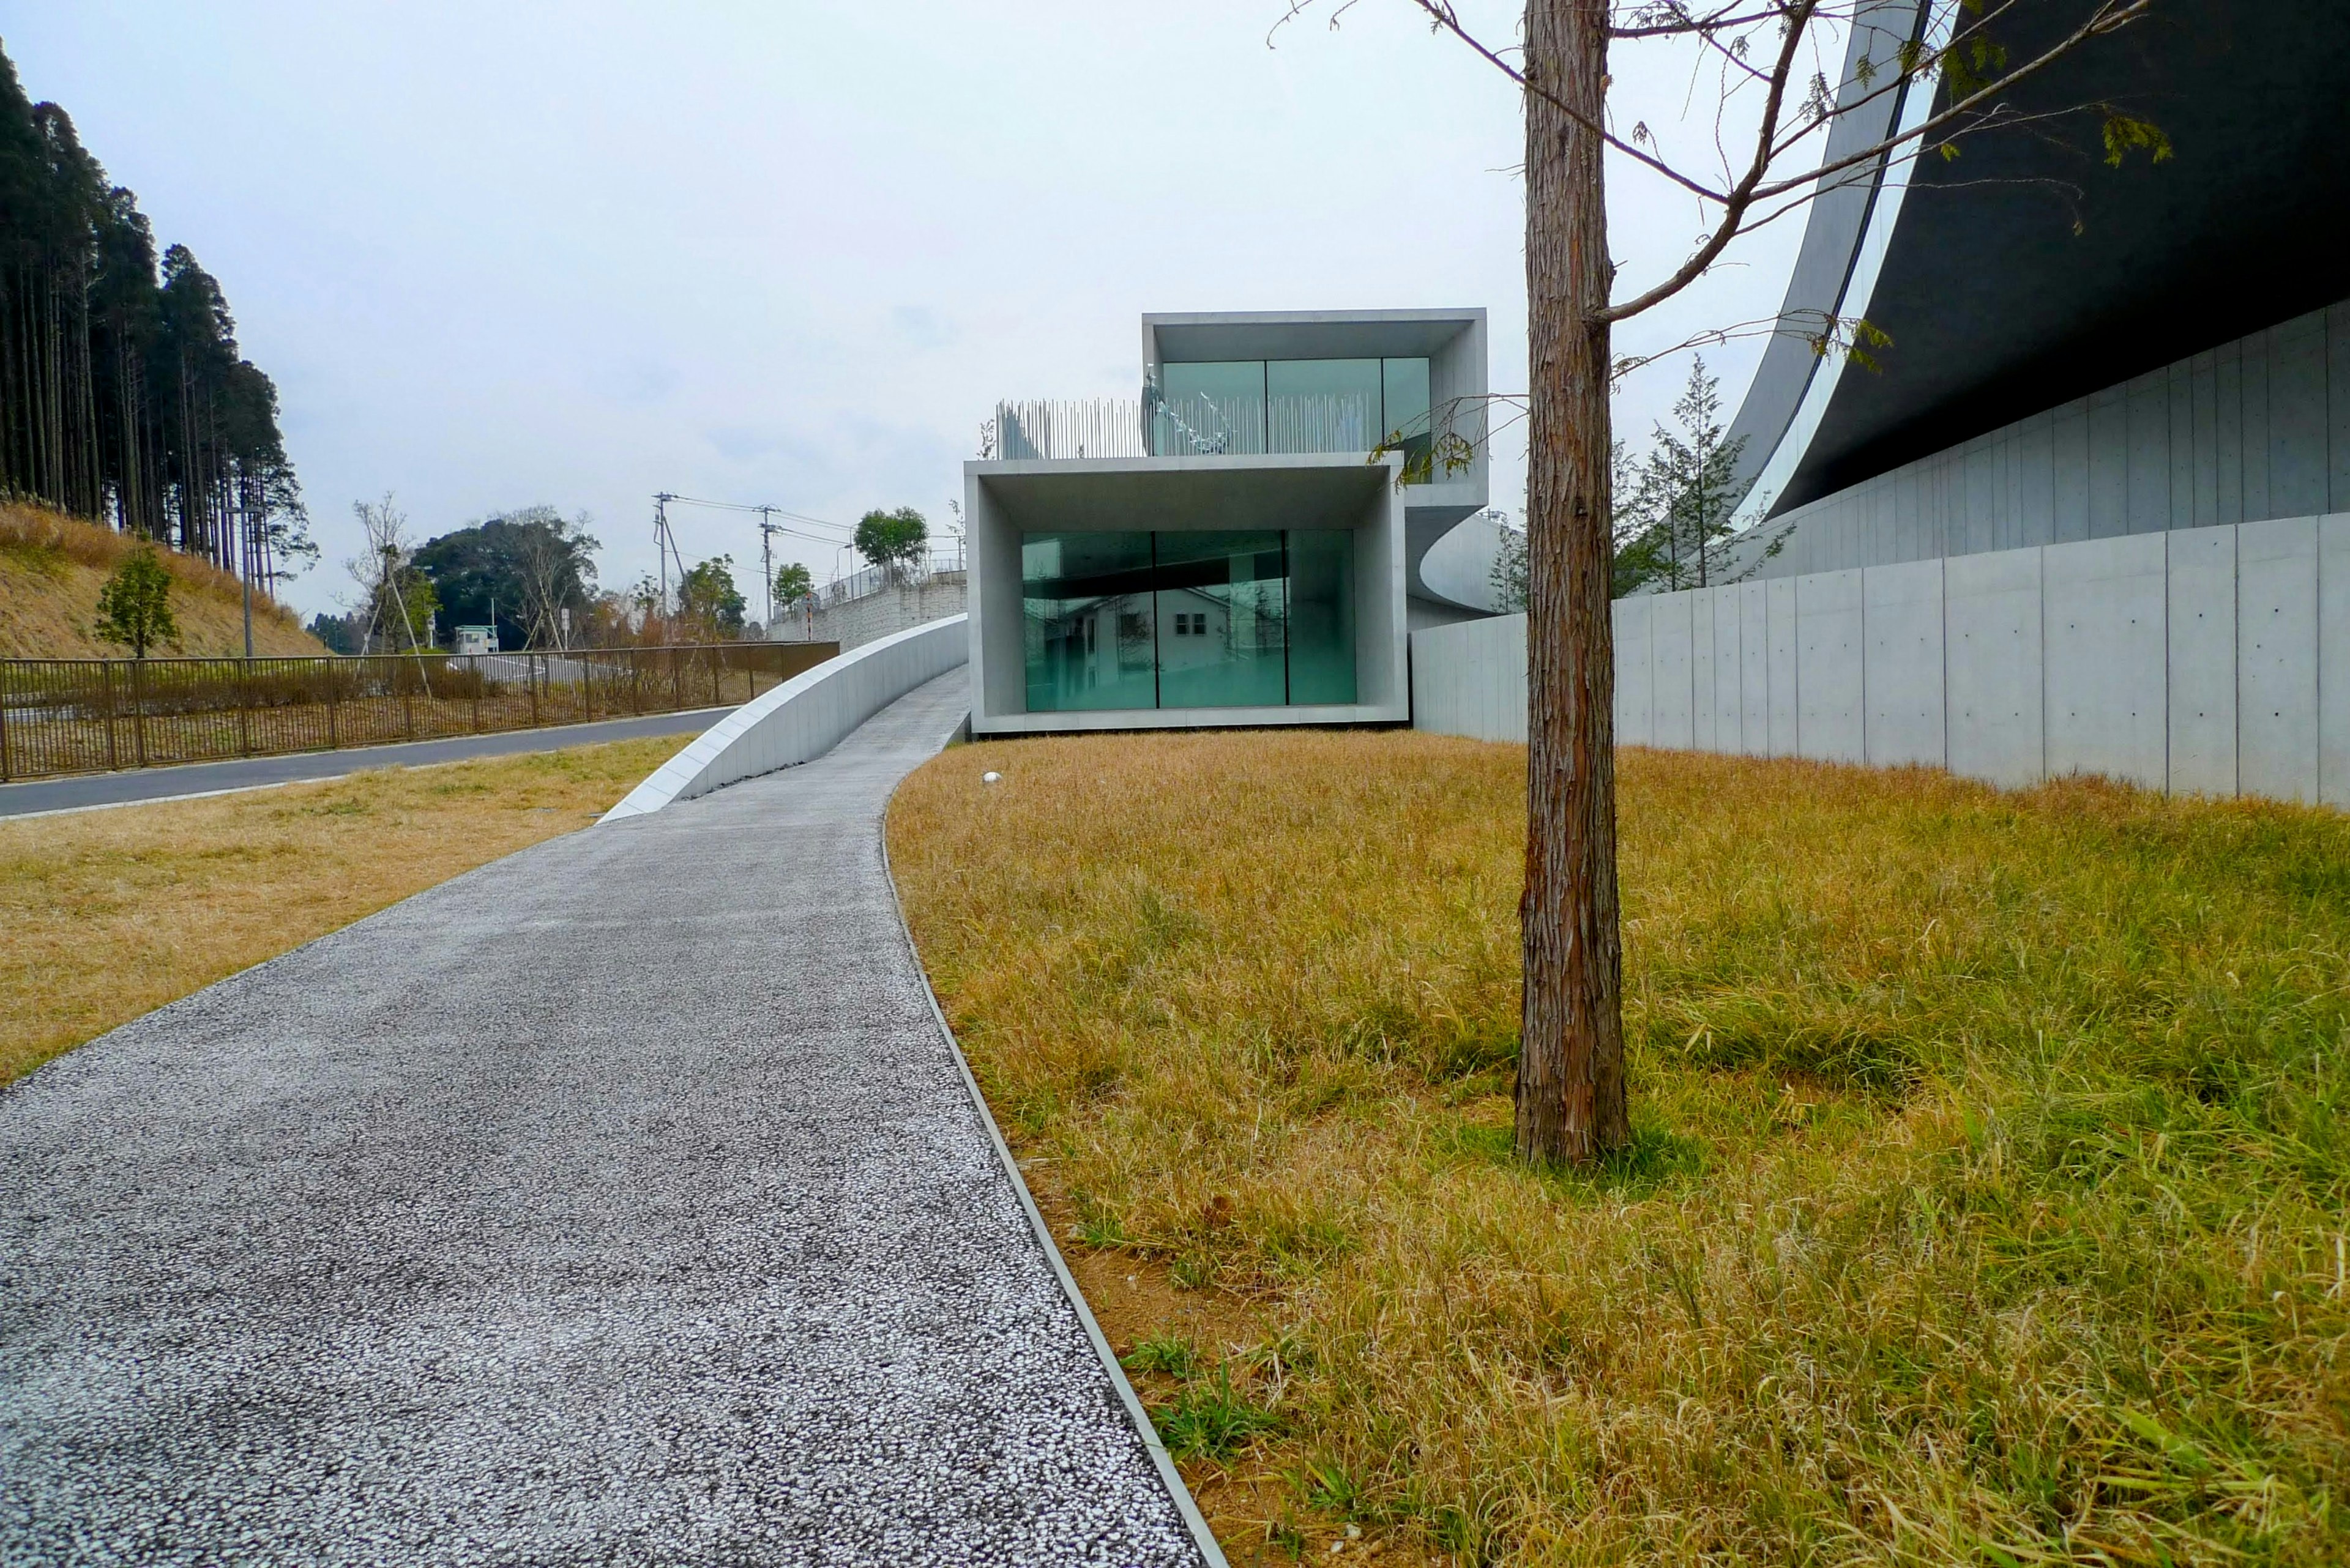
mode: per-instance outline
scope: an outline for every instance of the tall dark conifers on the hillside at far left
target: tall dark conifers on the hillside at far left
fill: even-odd
[[[0,52],[0,494],[103,520],[261,588],[315,559],[277,388],[221,284],[157,259],[139,200]]]

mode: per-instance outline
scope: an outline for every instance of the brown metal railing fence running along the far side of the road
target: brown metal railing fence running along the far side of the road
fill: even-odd
[[[837,642],[360,658],[0,658],[0,780],[747,703]]]

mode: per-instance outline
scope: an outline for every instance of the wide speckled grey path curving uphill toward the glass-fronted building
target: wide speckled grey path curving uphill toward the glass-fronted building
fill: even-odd
[[[1198,1563],[881,870],[966,686],[0,1091],[0,1561]]]

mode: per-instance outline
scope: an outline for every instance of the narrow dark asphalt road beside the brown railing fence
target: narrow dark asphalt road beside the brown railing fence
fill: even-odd
[[[237,762],[190,762],[176,769],[129,769],[122,773],[75,773],[73,778],[35,778],[0,785],[0,816],[26,811],[73,811],[80,806],[122,806],[141,799],[207,795],[212,790],[251,790],[256,785],[301,778],[341,778],[362,769],[421,766],[425,762],[463,762],[468,757],[510,757],[512,752],[548,752],[557,745],[597,745],[602,741],[637,741],[642,736],[698,736],[733,708],[696,708],[689,712],[649,712],[642,719],[597,719],[555,729],[510,729],[496,736],[449,736],[444,741],[402,741],[397,745],[355,745],[343,752],[296,752],[294,757],[242,757]]]

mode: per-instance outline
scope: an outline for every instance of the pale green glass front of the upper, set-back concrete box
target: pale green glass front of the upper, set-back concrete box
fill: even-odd
[[[1159,367],[1154,456],[1429,449],[1426,360],[1215,360]]]

